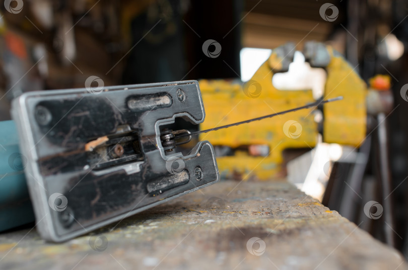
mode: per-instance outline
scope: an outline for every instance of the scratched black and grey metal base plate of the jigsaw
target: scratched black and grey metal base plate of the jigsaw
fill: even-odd
[[[208,141],[183,155],[169,132],[180,118],[204,121],[195,80],[30,92],[13,101],[12,116],[47,240],[120,222],[219,180]]]

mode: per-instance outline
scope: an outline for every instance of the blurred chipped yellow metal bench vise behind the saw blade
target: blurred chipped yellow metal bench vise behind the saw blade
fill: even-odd
[[[207,115],[200,129],[315,102],[311,89],[282,91],[272,83],[275,74],[288,71],[294,53],[292,43],[274,49],[244,84],[238,80],[199,81]],[[219,153],[217,162],[222,176],[238,176],[244,180],[249,177],[270,179],[284,176],[283,151],[314,147],[319,140],[319,129],[323,142],[355,147],[363,142],[366,136],[366,83],[355,68],[330,46],[308,42],[303,55],[311,67],[321,67],[326,71],[321,98],[343,96],[344,100],[323,106],[320,128],[314,119],[316,108],[312,108],[200,134],[199,139],[211,141],[216,154]]]

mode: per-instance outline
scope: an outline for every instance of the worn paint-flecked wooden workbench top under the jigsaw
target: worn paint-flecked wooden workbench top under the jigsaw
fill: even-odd
[[[220,182],[63,244],[44,242],[35,229],[0,234],[0,268],[408,269],[396,250],[294,186],[238,183]],[[260,240],[248,243],[252,237]]]

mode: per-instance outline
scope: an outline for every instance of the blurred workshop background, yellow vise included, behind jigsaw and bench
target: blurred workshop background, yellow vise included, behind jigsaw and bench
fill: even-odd
[[[222,176],[288,178],[408,256],[408,1],[4,3],[2,121],[22,93],[90,76],[97,87],[197,79],[202,129],[344,96],[199,139]]]

